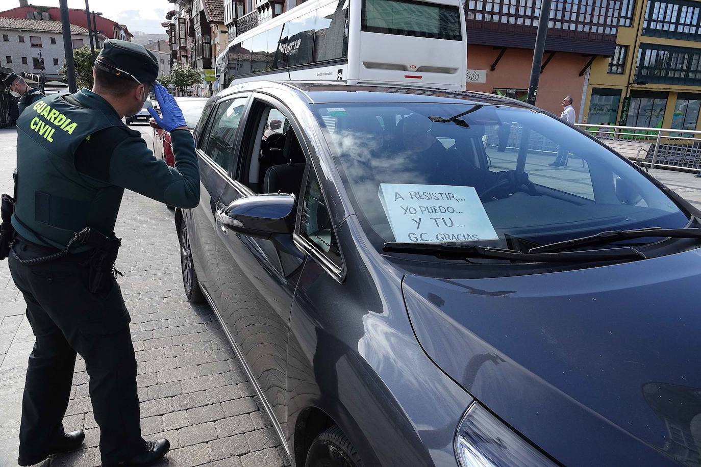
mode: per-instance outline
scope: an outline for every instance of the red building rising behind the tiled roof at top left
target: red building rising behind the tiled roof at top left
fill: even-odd
[[[8,4],[9,2],[4,2]],[[12,8],[6,11],[0,11],[0,17],[18,18],[20,20],[49,20],[60,21],[61,10],[55,6],[36,6],[29,5],[27,0],[20,0],[17,8]],[[92,18],[94,16],[94,18]],[[109,39],[121,39],[122,41],[130,41],[133,35],[129,32],[126,25],[120,25],[116,21],[108,20],[101,15],[91,15],[91,19],[97,25],[97,32],[106,36]],[[85,10],[77,8],[68,9],[68,20],[72,25],[81,26],[88,29],[88,18]],[[90,29],[93,25],[90,25]]]

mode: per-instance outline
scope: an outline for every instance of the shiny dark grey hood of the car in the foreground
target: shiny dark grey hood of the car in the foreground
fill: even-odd
[[[699,466],[701,250],[495,279],[407,275],[423,349],[567,466]]]

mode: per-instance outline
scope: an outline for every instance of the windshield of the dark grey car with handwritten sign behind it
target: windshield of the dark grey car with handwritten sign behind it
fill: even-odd
[[[378,248],[485,240],[537,246],[688,224],[637,169],[545,113],[468,102],[313,110]]]

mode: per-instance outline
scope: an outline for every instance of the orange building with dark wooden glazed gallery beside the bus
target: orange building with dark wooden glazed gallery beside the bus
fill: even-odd
[[[553,0],[536,105],[560,114],[571,96],[581,118],[592,63],[615,53],[625,0]],[[468,0],[468,90],[526,100],[539,0]]]

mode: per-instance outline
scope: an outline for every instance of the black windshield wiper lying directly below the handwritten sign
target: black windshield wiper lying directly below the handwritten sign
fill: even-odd
[[[606,260],[641,260],[645,255],[631,247],[593,251],[567,251],[564,253],[521,253],[511,249],[491,248],[461,242],[409,243],[387,242],[383,251],[388,253],[414,253],[451,258],[487,258],[526,261],[528,263],[580,263]],[[531,250],[532,251],[532,250]]]

